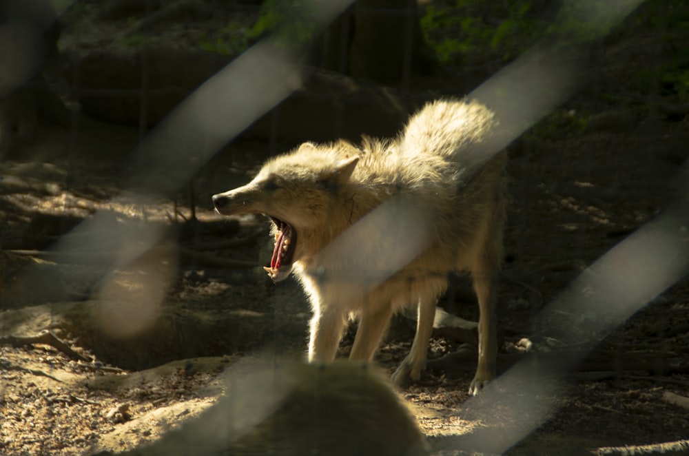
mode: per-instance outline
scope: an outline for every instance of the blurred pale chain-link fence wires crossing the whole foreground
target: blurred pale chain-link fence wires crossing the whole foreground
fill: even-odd
[[[92,2],[85,1],[81,6],[88,8],[90,3]],[[158,3],[150,2],[150,10],[156,10]],[[179,8],[192,8],[194,2],[176,3]],[[253,8],[234,4],[227,6],[225,2],[220,1],[209,3],[212,3],[211,6],[214,8],[236,8],[238,11]],[[272,3],[278,6],[280,4],[280,2]],[[354,14],[360,14],[362,17],[370,15],[371,18],[387,14],[403,17],[407,21],[407,39],[400,43],[404,50],[403,54],[406,56],[406,59],[402,61],[400,86],[401,92],[407,92],[413,70],[410,55],[413,48],[414,17],[411,13],[407,14],[404,8],[389,10],[366,6],[364,5],[366,2],[360,3],[362,4],[354,8],[361,9],[354,11]],[[566,10],[568,2],[560,3],[563,10]],[[575,91],[585,87],[590,70],[586,68],[586,65],[590,64],[592,50],[595,52],[595,47],[613,28],[613,25],[623,21],[641,2],[615,1],[606,2],[604,6],[597,2],[589,3],[588,8],[581,8],[588,12],[588,16],[584,15],[577,19],[581,28],[567,30],[564,36],[559,37],[560,41],[553,39],[553,35],[549,35],[548,39],[538,41],[467,95],[469,99],[489,107],[495,112],[500,122],[500,130],[490,135],[489,141],[486,141],[483,147],[469,158],[473,160],[470,167],[481,167],[497,152],[531,129],[548,112],[566,101]],[[127,7],[127,2],[112,2],[112,4],[119,4],[125,9]],[[45,8],[43,2],[28,2],[21,8],[17,7],[16,3],[8,1],[0,5],[3,6],[2,14],[4,14],[0,16],[2,19],[0,59],[4,62],[0,69],[2,72],[0,93],[4,100],[3,112],[8,113],[11,108],[8,102],[12,99],[11,95],[37,77],[37,68],[49,58],[52,52],[47,45],[43,45],[48,42],[43,41],[43,37],[52,30],[52,23],[45,19],[47,17],[45,14],[48,13],[41,13]],[[276,5],[274,7],[278,8]],[[68,7],[75,8],[80,5],[77,3],[70,6],[68,2],[64,2],[55,6],[57,10],[66,10]],[[155,123],[152,128],[150,127],[152,123],[148,118],[150,105],[147,104],[150,96],[156,93],[156,90],[178,90],[178,88],[147,87],[150,81],[147,74],[154,70],[147,66],[145,58],[141,61],[141,81],[143,82],[138,90],[128,92],[120,89],[84,90],[80,87],[78,78],[72,79],[72,86],[68,87],[68,98],[71,96],[79,99],[79,96],[88,95],[103,99],[121,99],[126,95],[138,99],[139,103],[138,132],[141,141],[138,141],[127,158],[125,168],[128,172],[121,178],[118,191],[110,200],[101,205],[105,209],[95,211],[71,229],[68,234],[57,238],[48,249],[41,253],[44,258],[65,264],[70,264],[74,262],[74,258],[79,258],[79,263],[88,267],[87,269],[75,268],[69,273],[68,280],[76,284],[75,293],[81,296],[96,296],[104,302],[103,309],[105,310],[101,310],[100,317],[96,318],[100,330],[104,333],[115,335],[116,338],[126,338],[138,330],[143,330],[159,315],[159,307],[163,305],[161,303],[176,279],[175,268],[162,270],[153,268],[147,271],[150,287],[146,293],[127,297],[119,294],[122,292],[121,289],[114,287],[111,290],[107,287],[108,278],[116,271],[126,269],[132,262],[159,245],[165,236],[169,236],[167,227],[147,220],[147,211],[152,211],[153,209],[150,208],[159,205],[161,200],[169,201],[178,198],[180,192],[189,185],[189,181],[193,181],[200,170],[207,167],[218,151],[256,119],[270,112],[302,86],[308,77],[302,65],[306,61],[305,56],[311,51],[310,40],[321,35],[336,19],[342,21],[341,14],[351,8],[351,2],[296,2],[293,7],[296,12],[292,11],[292,14],[305,14],[300,19],[291,18],[296,21],[292,24],[298,23],[302,28],[297,37],[294,36],[290,23],[281,23],[278,20],[277,25],[274,25],[276,29],[269,36],[257,39],[254,45],[186,96],[172,112]],[[347,14],[351,14],[352,10],[347,11],[349,11]],[[151,13],[148,17],[152,14],[155,13]],[[571,26],[571,20],[555,17],[553,28],[565,30]],[[374,21],[375,19],[367,20]],[[587,33],[586,39],[579,36],[583,33],[582,30]],[[332,32],[332,29],[329,31]],[[325,43],[327,42],[326,40]],[[216,43],[217,45],[220,45],[220,41]],[[78,71],[74,70],[74,74],[77,73]],[[10,117],[8,114],[6,119]],[[272,132],[276,132],[280,121],[285,121],[284,118],[280,119],[277,116],[271,119]],[[72,135],[72,141],[68,146],[70,149],[68,156],[76,153],[74,148],[79,141],[83,122],[79,114],[72,114],[68,119],[68,128]],[[340,123],[338,129],[345,129],[342,123],[345,123],[346,119],[340,116],[338,122]],[[5,121],[3,125],[0,143],[3,138],[17,134],[8,121]],[[276,140],[271,138],[270,141],[274,149]],[[71,159],[68,163],[74,165]],[[590,166],[595,167],[595,162]],[[69,187],[70,173],[76,172],[83,171],[76,167],[66,169],[65,189],[67,191],[72,191]],[[566,378],[576,371],[577,366],[598,344],[615,329],[625,324],[632,315],[686,276],[689,271],[687,178],[689,178],[689,170],[686,165],[683,165],[677,178],[679,185],[676,186],[673,202],[667,209],[618,242],[613,249],[586,267],[564,291],[559,293],[557,298],[546,303],[539,311],[533,312],[532,326],[547,327],[548,333],[557,333],[558,339],[566,349],[557,351],[555,355],[547,353],[523,355],[495,382],[491,382],[479,396],[471,397],[460,405],[462,413],[477,422],[494,423],[495,409],[500,408],[500,416],[519,416],[518,425],[506,426],[497,432],[496,429],[499,426],[493,424],[469,435],[458,435],[457,438],[446,440],[432,440],[432,443],[435,442],[433,443],[434,451],[445,452],[442,454],[451,454],[452,451],[457,454],[464,454],[459,452],[491,454],[508,452],[555,413],[557,402],[553,401],[553,397],[566,395]],[[11,181],[12,176],[8,174],[3,176],[3,179]],[[524,183],[515,185],[524,185]],[[196,197],[192,191],[190,196],[192,206],[209,204],[209,201],[194,202]],[[66,204],[68,198],[64,199]],[[113,216],[113,207],[135,208],[134,213],[141,214],[141,223],[123,232],[121,220],[118,216]],[[174,211],[177,211],[176,207]],[[31,215],[29,214],[28,217]],[[174,218],[176,218],[176,212]],[[520,219],[517,218],[517,220]],[[381,205],[355,227],[356,232],[345,233],[338,239],[336,245],[330,247],[342,252],[356,253],[358,256],[355,263],[356,270],[350,271],[353,277],[358,277],[365,270],[364,266],[378,265],[390,268],[384,271],[376,270],[376,274],[380,276],[376,280],[380,282],[396,272],[395,265],[406,264],[424,249],[424,242],[415,242],[415,239],[419,238],[419,234],[424,233],[427,227],[424,219],[411,209],[408,212],[405,212],[404,208],[391,211],[388,205]],[[365,242],[362,244],[362,239],[367,238],[367,233],[376,233],[381,230],[381,227],[387,227],[388,235],[382,238],[380,245],[367,245]],[[417,236],[410,234],[410,230]],[[0,247],[9,251],[8,242],[5,244]],[[102,247],[105,245],[107,249],[104,250]],[[394,252],[394,257],[392,260],[391,257],[381,258],[381,255],[384,255],[381,252]],[[105,272],[94,274],[93,271],[96,269]],[[56,277],[46,276],[41,266],[29,267],[22,271],[22,274],[25,278],[35,278],[39,287],[49,288],[50,285],[47,282],[58,280]],[[366,276],[363,280],[369,287],[373,286],[371,276]],[[94,289],[99,291],[92,295]],[[7,290],[10,288],[6,287],[6,296]],[[134,304],[130,308],[130,313],[122,314],[118,309],[107,310],[107,302],[115,303],[121,300],[132,300]],[[10,329],[15,329],[9,321],[9,318],[3,320],[3,337],[11,335]],[[10,329],[6,330],[6,328]],[[228,329],[228,331],[231,330]],[[582,335],[584,333],[585,335]],[[294,394],[295,384],[311,381],[300,377],[302,374],[294,369],[291,370],[290,365],[287,363],[285,366],[278,357],[258,364],[238,363],[223,377],[227,391],[234,392],[234,395],[228,395],[220,400],[202,415],[200,421],[190,421],[183,431],[172,433],[157,446],[141,450],[142,453],[136,454],[198,454],[198,452],[225,454],[223,451],[226,451],[228,446],[231,447],[233,442],[247,435],[251,436],[252,430],[255,431],[260,426],[272,426],[274,430],[276,428],[292,429],[296,425],[292,426],[279,421],[265,424],[266,417],[276,410],[277,404],[284,404],[285,397],[291,397]],[[318,379],[321,375],[323,382],[333,381],[328,378],[325,371],[318,369],[313,371],[313,376],[316,378],[313,381],[316,386],[307,393],[300,391],[300,394],[304,394],[303,397],[299,396],[300,404],[309,403],[309,400],[318,404],[319,392],[327,390],[319,383]],[[361,372],[364,371],[365,369]],[[343,375],[359,378],[360,371],[346,371]],[[368,375],[369,373],[366,373],[361,376],[363,379],[361,384],[370,385],[371,382],[378,381],[370,380]],[[6,385],[7,383],[3,381],[3,389]],[[355,391],[358,390],[355,388]],[[311,393],[313,396],[309,396]],[[323,394],[327,396],[326,393]],[[332,397],[327,398],[327,400],[331,399]],[[357,401],[349,397],[348,400]],[[369,405],[378,413],[375,404]],[[336,401],[327,403],[324,407],[326,406],[327,408],[346,407]],[[366,402],[364,401],[361,406],[366,407]],[[288,408],[288,410],[292,409]],[[294,413],[311,417],[304,422],[294,417],[300,426],[307,428],[313,428],[321,419],[323,423],[334,423],[333,426],[345,426],[337,419],[328,421],[329,418],[324,417],[322,415],[324,412],[318,407],[311,409],[295,406]],[[375,416],[376,419],[387,419],[382,412],[380,416]],[[289,421],[289,418],[287,420]],[[265,432],[268,433],[268,431]],[[276,432],[279,435],[279,429]],[[291,432],[294,435],[294,430]],[[333,445],[333,442],[327,440],[331,438],[331,435],[325,428],[322,433],[322,435],[300,434],[299,439],[304,439],[304,441],[311,439],[309,441],[311,443],[304,444],[305,447],[302,446],[297,450],[289,448],[289,445],[287,448],[280,446],[275,448],[278,448],[278,453],[285,452],[279,454],[302,454],[298,451],[303,448],[313,454],[385,454],[385,448],[387,448],[373,449],[377,448],[375,438],[368,440],[356,435],[338,435],[338,438],[343,441],[352,439],[355,443],[358,440],[358,443],[351,446],[342,442],[342,448],[338,448],[340,453],[334,450],[334,453],[323,453],[322,448],[331,449],[328,445]],[[407,435],[411,435],[409,433]],[[686,435],[677,437],[678,439],[685,438]],[[285,437],[285,439],[290,438],[289,435]],[[415,437],[411,438],[410,448],[417,444]],[[241,446],[233,448],[236,448],[237,454],[250,451],[250,448],[247,450]],[[267,445],[265,448],[272,447]],[[422,446],[418,448],[414,446],[414,448],[419,451],[419,454],[425,451]]]

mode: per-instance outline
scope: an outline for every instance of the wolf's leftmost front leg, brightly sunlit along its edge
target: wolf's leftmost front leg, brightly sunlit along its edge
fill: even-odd
[[[309,337],[309,362],[335,359],[345,321],[345,314],[340,309],[314,309]]]

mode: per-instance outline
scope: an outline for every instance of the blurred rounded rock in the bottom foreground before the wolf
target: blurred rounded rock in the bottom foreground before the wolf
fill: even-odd
[[[235,373],[227,395],[198,418],[119,454],[412,456],[428,446],[375,366],[340,361]]]

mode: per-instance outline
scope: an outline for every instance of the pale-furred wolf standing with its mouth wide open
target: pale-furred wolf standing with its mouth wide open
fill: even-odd
[[[392,380],[419,380],[449,273],[468,271],[480,310],[469,393],[495,378],[507,200],[506,152],[490,153],[498,124],[478,101],[433,101],[397,138],[304,143],[212,197],[220,214],[271,220],[265,269],[275,282],[294,272],[309,296],[310,362],[334,359],[348,315],[359,318],[350,359],[371,360],[391,315],[415,304],[415,338]]]

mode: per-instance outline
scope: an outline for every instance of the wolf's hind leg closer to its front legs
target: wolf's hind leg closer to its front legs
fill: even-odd
[[[404,384],[407,380],[417,382],[421,378],[421,372],[426,368],[426,354],[429,349],[429,340],[433,332],[433,319],[435,318],[435,303],[438,296],[423,296],[419,300],[418,315],[416,320],[416,335],[411,344],[409,355],[404,358],[402,364],[392,375],[392,381],[396,385]]]

